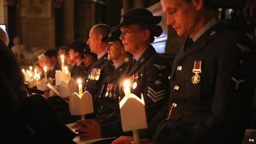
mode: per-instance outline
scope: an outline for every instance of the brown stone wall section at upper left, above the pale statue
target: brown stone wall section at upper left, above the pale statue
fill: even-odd
[[[52,0],[17,0],[16,33],[30,49],[55,48]]]

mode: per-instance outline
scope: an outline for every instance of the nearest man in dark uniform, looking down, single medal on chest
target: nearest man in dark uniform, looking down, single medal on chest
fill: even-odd
[[[251,106],[249,38],[217,23],[208,0],[161,0],[167,24],[189,35],[173,63],[170,96],[148,128],[143,144],[240,144]],[[252,71],[252,72],[251,72]],[[131,142],[120,137],[112,144]]]

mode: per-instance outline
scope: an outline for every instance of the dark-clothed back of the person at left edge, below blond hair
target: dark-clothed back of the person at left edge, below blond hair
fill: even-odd
[[[21,66],[10,48],[0,41],[0,69],[13,87],[19,101],[27,97]]]

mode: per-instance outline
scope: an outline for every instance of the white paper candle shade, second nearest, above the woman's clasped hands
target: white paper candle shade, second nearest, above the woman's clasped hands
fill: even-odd
[[[88,91],[85,91],[81,98],[78,93],[73,93],[69,101],[70,112],[73,116],[81,116],[94,112],[92,96]]]

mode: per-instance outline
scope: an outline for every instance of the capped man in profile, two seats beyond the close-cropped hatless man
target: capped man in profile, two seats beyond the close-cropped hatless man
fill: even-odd
[[[75,80],[78,78],[83,79],[87,75],[89,67],[86,67],[82,55],[82,52],[86,48],[86,43],[80,39],[77,39],[71,42],[68,46],[69,48],[69,57],[76,63],[76,67],[71,69],[71,77]]]

